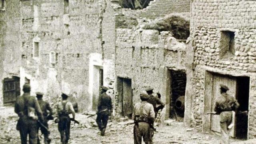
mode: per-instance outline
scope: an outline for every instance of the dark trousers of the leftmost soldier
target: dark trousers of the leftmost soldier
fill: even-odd
[[[29,144],[37,144],[38,140],[38,122],[32,120],[28,116],[21,116],[17,124],[20,131],[21,144],[27,144],[29,136]]]

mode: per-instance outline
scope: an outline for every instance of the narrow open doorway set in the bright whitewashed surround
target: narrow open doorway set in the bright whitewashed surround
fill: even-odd
[[[97,110],[100,87],[103,86],[103,67],[93,68],[93,90],[92,90],[92,110]]]

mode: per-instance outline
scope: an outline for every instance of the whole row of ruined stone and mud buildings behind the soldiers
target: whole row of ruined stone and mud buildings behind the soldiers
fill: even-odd
[[[164,118],[220,134],[218,115],[207,113],[226,84],[249,110],[230,135],[256,137],[255,0],[148,0],[138,9],[120,0],[0,2],[0,104],[30,83],[53,104],[64,91],[95,110],[106,85],[114,114],[130,117],[152,87]]]

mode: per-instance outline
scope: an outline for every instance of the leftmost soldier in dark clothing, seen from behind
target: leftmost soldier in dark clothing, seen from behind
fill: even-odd
[[[20,131],[21,144],[27,144],[29,136],[30,144],[37,144],[38,140],[38,118],[44,123],[41,108],[34,96],[30,96],[30,85],[23,85],[22,96],[18,96],[14,106],[14,112],[20,117],[17,123],[17,130]]]

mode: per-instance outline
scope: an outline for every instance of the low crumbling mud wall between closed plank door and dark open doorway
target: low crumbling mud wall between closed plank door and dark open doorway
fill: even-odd
[[[185,44],[157,30],[117,29],[116,36],[115,72],[132,79],[133,104],[140,102],[145,88],[152,87],[169,110],[170,70],[186,69]]]

